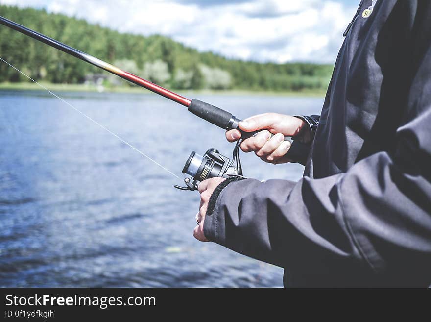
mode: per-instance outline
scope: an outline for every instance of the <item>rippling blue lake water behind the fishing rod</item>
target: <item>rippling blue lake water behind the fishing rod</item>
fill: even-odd
[[[223,130],[154,94],[57,93],[183,178]],[[198,95],[239,118],[319,113],[321,98]],[[298,164],[241,154],[244,175]],[[1,287],[281,287],[283,270],[192,236],[197,192],[47,92],[0,91]]]

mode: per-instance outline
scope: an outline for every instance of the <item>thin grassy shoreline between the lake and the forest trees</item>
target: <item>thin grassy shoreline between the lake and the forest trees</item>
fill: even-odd
[[[145,89],[141,87],[102,87],[96,85],[85,85],[85,84],[53,84],[53,83],[41,83],[43,86],[51,91],[60,92],[106,92],[106,93],[145,93]],[[0,83],[0,90],[17,90],[17,91],[33,91],[41,90],[45,91],[39,85],[35,83],[20,82]],[[175,90],[174,90],[175,91]],[[270,96],[315,96],[322,97],[325,95],[325,91],[322,90],[303,90],[303,91],[257,91],[257,90],[177,90],[179,93],[199,93],[199,94],[219,94],[219,95],[270,95]]]

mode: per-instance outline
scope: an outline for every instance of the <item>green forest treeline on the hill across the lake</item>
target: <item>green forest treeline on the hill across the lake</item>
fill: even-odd
[[[174,89],[323,90],[333,70],[333,65],[227,59],[212,52],[199,52],[165,36],[120,33],[45,10],[0,5],[0,15]],[[0,55],[39,81],[84,83],[102,74],[88,63],[2,25]],[[124,85],[118,77],[103,75],[98,79],[106,85]],[[2,63],[0,82],[4,81],[27,79]]]

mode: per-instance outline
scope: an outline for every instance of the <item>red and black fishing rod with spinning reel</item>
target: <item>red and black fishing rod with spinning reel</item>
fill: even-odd
[[[138,86],[144,87],[156,94],[159,94],[167,99],[173,100],[188,108],[189,112],[204,119],[224,130],[237,129],[241,132],[241,140],[239,140],[234,148],[232,159],[220,154],[216,149],[209,149],[201,156],[194,151],[189,156],[186,165],[183,168],[183,173],[190,174],[190,178],[185,178],[184,183],[186,187],[175,186],[182,190],[196,190],[199,182],[210,178],[210,177],[229,177],[232,175],[242,176],[242,168],[239,160],[239,145],[242,139],[249,138],[256,135],[260,130],[254,132],[245,132],[239,129],[238,124],[241,121],[239,118],[232,115],[219,107],[203,102],[198,99],[188,99],[179,94],[176,94],[168,89],[154,84],[148,80],[145,80],[137,75],[128,73],[121,70],[120,68],[111,65],[103,60],[100,60],[92,55],[89,55],[83,51],[77,50],[71,46],[63,44],[53,38],[50,38],[44,34],[41,34],[35,30],[25,27],[24,25],[17,24],[9,19],[0,16],[0,24],[5,25],[11,29],[19,31],[24,35],[27,35],[33,39],[47,44],[57,50],[61,50],[68,53],[80,60],[88,62],[96,67],[99,67],[111,74],[120,76],[121,78],[130,81]],[[272,135],[272,134],[271,134]],[[305,145],[299,141],[292,142],[291,137],[285,137],[285,141],[291,142],[291,147],[287,152],[287,156],[292,159],[299,159],[303,155],[304,151],[308,149]],[[234,164],[235,161],[235,164]]]

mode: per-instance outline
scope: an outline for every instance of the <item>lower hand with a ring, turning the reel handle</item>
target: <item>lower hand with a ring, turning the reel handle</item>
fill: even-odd
[[[199,183],[199,186],[197,187],[200,193],[200,205],[199,212],[196,215],[196,221],[199,224],[194,228],[193,236],[198,241],[209,242],[204,235],[205,214],[207,213],[208,202],[210,201],[210,197],[213,194],[214,189],[216,189],[216,187],[224,180],[226,179],[219,177],[207,179]]]

